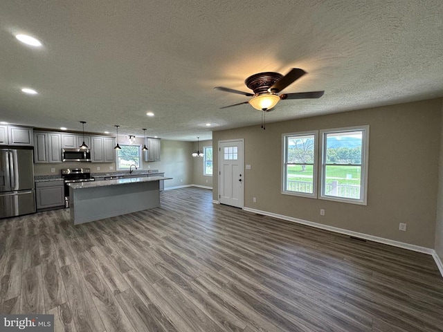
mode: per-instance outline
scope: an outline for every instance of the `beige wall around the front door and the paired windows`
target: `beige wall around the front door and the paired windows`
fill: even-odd
[[[252,166],[244,171],[246,208],[433,248],[441,109],[442,100],[425,100],[269,123],[265,131],[257,125],[214,131],[213,144],[244,139],[244,164]],[[282,133],[364,124],[370,125],[367,206],[281,194]],[[214,154],[215,200],[217,165]],[[400,222],[407,223],[406,232],[399,231]]]

